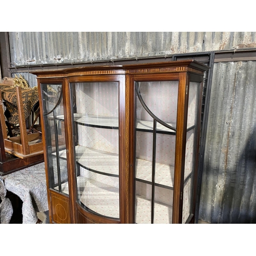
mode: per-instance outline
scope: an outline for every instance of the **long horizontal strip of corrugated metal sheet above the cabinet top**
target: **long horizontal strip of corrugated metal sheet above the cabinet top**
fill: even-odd
[[[9,41],[16,66],[256,47],[255,32],[9,32]]]

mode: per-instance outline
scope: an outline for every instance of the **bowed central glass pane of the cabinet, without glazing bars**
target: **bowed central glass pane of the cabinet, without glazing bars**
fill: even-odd
[[[71,83],[77,201],[119,218],[118,82]]]

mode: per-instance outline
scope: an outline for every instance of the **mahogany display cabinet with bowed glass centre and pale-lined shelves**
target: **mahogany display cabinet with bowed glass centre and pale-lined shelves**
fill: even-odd
[[[51,223],[194,223],[193,60],[37,71]]]

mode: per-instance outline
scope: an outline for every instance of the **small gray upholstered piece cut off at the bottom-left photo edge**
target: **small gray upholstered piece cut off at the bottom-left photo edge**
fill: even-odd
[[[0,177],[0,223],[10,223],[12,214],[12,203],[9,198],[6,198],[6,187],[3,179]]]

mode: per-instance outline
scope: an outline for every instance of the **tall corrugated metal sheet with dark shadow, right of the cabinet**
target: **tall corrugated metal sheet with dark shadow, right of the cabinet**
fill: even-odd
[[[256,62],[215,63],[199,219],[256,223]]]

